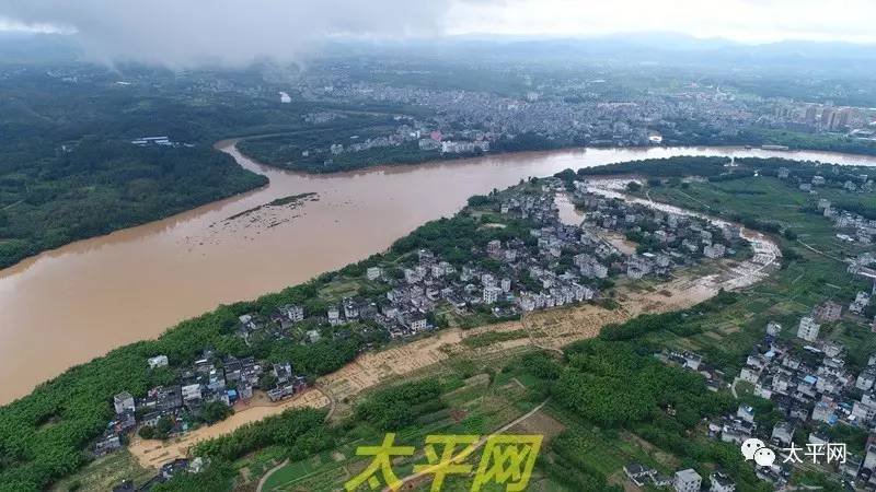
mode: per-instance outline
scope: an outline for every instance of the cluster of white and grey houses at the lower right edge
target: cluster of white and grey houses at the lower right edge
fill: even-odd
[[[835,321],[841,315],[841,305],[820,304],[810,316],[800,318],[796,338],[802,342],[796,344],[780,338],[782,326],[770,321],[737,382],[749,383],[754,395],[771,400],[783,419],[769,429],[760,429],[754,409],[740,405],[736,413],[710,422],[710,435],[737,445],[758,437],[769,441],[774,449],[787,449],[792,443],[797,447],[827,445],[830,438],[825,430],[834,425],[872,432],[876,424],[876,355],[855,374],[841,344],[818,339],[821,323]],[[806,443],[795,442],[800,433],[806,435]],[[791,469],[779,465],[783,460],[772,467],[758,467],[758,477],[784,487]],[[875,470],[876,445],[868,442],[866,456],[849,455],[838,471],[850,481],[876,490]]]

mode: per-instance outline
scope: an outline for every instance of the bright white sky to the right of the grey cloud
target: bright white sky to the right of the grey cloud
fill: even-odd
[[[454,3],[447,32],[598,35],[661,31],[745,43],[876,42],[876,0],[506,0]]]

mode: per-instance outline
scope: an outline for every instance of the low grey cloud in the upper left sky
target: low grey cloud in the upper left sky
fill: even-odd
[[[0,0],[0,19],[74,31],[93,59],[173,68],[295,61],[336,35],[437,34],[446,10],[439,0]]]

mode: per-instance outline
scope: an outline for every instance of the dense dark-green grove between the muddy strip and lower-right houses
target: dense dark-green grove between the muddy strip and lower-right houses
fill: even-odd
[[[671,321],[664,321],[661,329],[671,330]],[[658,361],[647,345],[642,339],[573,343],[565,350],[565,364],[555,370],[560,377],[551,385],[552,396],[584,422],[624,429],[682,458],[682,468],[695,468],[707,477],[705,465],[715,464],[733,477],[739,490],[771,490],[754,477],[736,447],[695,437],[694,427],[702,418],[724,414],[738,402],[726,393],[707,390],[701,375]],[[584,437],[567,431],[550,445],[552,461],[569,462],[574,472],[551,472],[555,462],[544,467],[551,477],[588,484],[587,490],[611,490],[598,470],[576,459],[579,440]]]

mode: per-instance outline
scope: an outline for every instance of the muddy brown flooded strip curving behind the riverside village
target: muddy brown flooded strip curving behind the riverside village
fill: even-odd
[[[611,191],[611,181],[607,181],[601,191],[619,196]],[[643,202],[656,209],[672,210],[675,213],[703,216],[661,203],[644,202],[634,198],[629,200]],[[721,222],[710,220],[715,223]],[[689,271],[677,272],[672,280],[666,282],[648,282],[643,285],[639,281],[636,284],[623,284],[614,297],[619,301],[615,308],[584,304],[527,313],[517,321],[473,329],[445,329],[410,343],[366,352],[338,371],[320,377],[316,389],[280,405],[264,405],[264,401],[258,403],[257,400],[245,406],[239,405],[231,418],[216,425],[197,429],[181,438],[165,443],[135,437],[129,449],[142,467],[158,468],[165,462],[186,457],[187,450],[199,442],[228,434],[246,423],[280,413],[287,408],[324,408],[331,402],[332,413],[341,411],[342,414],[346,414],[362,393],[429,371],[430,367],[439,366],[454,356],[488,358],[499,352],[533,349],[562,351],[562,348],[569,343],[597,337],[601,328],[609,324],[623,324],[642,314],[660,314],[689,308],[714,297],[721,291],[751,286],[779,269],[781,253],[772,241],[751,231],[744,231],[742,237],[752,247],[751,259],[710,261]],[[508,337],[496,337],[503,333]],[[472,340],[479,342],[472,343]],[[480,340],[495,341],[480,343]],[[314,393],[319,396],[314,397]]]

